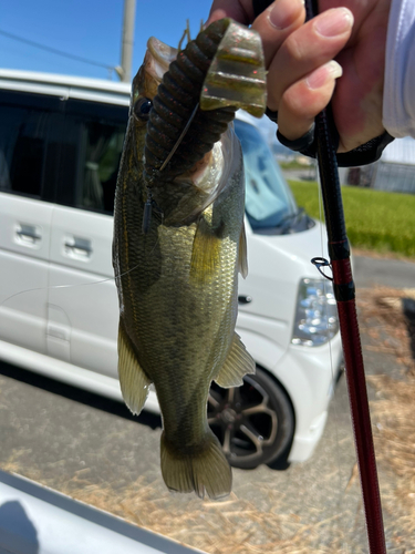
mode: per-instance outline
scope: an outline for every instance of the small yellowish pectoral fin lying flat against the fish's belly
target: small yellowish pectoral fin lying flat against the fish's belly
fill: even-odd
[[[203,284],[218,270],[220,261],[220,238],[204,217],[197,224],[193,242],[190,281]]]

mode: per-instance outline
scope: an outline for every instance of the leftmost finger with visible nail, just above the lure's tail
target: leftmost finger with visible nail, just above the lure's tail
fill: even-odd
[[[252,29],[258,31],[262,39],[267,69],[283,41],[300,28],[304,20],[303,0],[276,0],[253,21]]]

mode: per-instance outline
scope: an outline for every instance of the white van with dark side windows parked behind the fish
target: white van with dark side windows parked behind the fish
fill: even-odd
[[[128,102],[125,83],[0,70],[0,358],[117,400],[112,214]],[[325,230],[255,124],[235,123],[249,264],[237,331],[258,367],[241,388],[214,383],[208,403],[238,468],[312,454],[342,361],[331,284],[310,263]]]

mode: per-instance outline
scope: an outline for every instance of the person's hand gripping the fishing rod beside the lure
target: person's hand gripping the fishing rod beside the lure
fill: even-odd
[[[384,132],[390,6],[391,0],[320,0],[320,14],[304,23],[302,0],[276,0],[256,19],[252,0],[214,0],[208,23],[230,17],[260,33],[268,107],[278,111],[281,134],[290,141],[305,134],[332,99],[338,152],[349,152]],[[341,78],[332,60],[343,69]]]

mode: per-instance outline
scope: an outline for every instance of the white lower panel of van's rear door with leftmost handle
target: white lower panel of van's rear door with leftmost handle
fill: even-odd
[[[45,352],[53,207],[10,194],[0,196],[0,337]],[[22,290],[28,293],[19,294]]]

